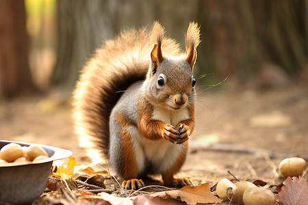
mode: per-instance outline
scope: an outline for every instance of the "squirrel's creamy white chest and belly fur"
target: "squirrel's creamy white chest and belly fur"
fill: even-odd
[[[179,122],[188,118],[187,109],[176,111],[155,109],[153,111],[154,120],[161,120],[173,126],[176,126]],[[166,172],[175,163],[184,147],[183,145],[171,143],[166,139],[159,139],[157,141],[146,139],[146,137],[142,137],[138,129],[133,126],[127,127],[126,131],[131,134],[131,137],[136,137],[136,140],[132,140],[132,142],[139,173],[144,171],[146,160],[151,161],[151,163],[155,165],[159,165],[155,172]]]

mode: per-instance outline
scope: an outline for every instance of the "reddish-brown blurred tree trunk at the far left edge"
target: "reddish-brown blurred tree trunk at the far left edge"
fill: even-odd
[[[23,0],[0,0],[0,96],[14,98],[37,88],[28,64],[29,38]]]

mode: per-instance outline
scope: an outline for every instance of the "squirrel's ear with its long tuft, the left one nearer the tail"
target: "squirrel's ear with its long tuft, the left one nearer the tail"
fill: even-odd
[[[160,25],[158,21],[153,23],[153,31],[152,31],[152,38],[155,42],[153,50],[151,52],[151,59],[155,61],[155,63],[161,63],[164,60],[162,55],[162,40],[164,38],[164,27]]]

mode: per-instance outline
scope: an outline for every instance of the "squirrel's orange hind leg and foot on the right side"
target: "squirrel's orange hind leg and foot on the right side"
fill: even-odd
[[[175,163],[166,172],[162,173],[164,184],[170,187],[185,187],[194,186],[194,183],[189,178],[173,178],[173,176],[181,169],[188,150],[188,143],[183,143],[185,146]]]

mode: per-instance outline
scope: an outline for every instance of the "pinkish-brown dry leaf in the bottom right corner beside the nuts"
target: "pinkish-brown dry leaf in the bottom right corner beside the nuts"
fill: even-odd
[[[287,179],[277,194],[277,205],[305,205],[308,203],[308,182],[306,178],[298,180],[297,177]]]

